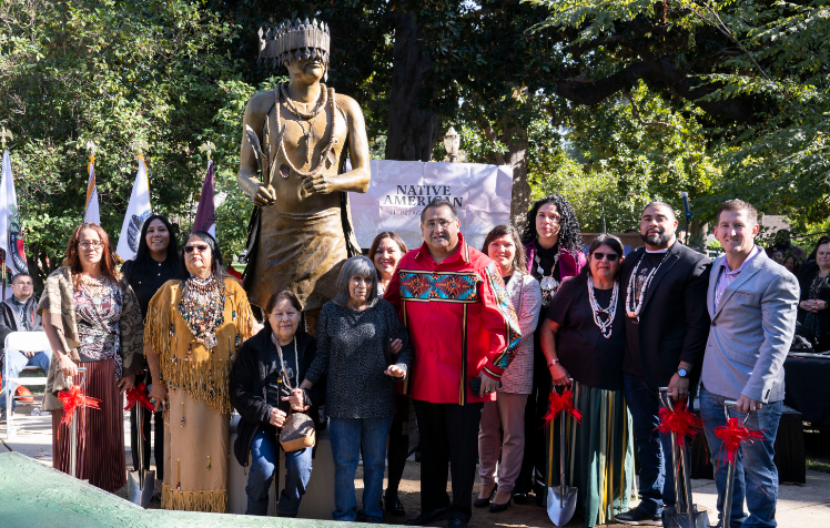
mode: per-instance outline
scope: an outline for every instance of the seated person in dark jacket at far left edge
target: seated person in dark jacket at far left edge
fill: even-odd
[[[2,315],[0,315],[0,357],[3,362],[9,362],[9,377],[18,377],[20,370],[28,366],[42,368],[49,372],[49,362],[52,358],[52,351],[6,351],[6,336],[12,332],[43,332],[41,317],[38,315],[38,302],[32,287],[32,277],[28,273],[18,273],[11,280],[11,291],[14,293],[11,297],[0,304]],[[4,372],[0,370],[0,373]],[[0,419],[6,419],[6,377],[0,385]],[[17,387],[12,387],[12,396]],[[11,410],[14,412],[17,402],[11,404]]]

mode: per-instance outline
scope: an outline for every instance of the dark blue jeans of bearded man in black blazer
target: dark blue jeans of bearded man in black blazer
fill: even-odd
[[[660,424],[659,393],[645,378],[622,374],[622,390],[631,413],[634,439],[640,458],[640,508],[660,516],[664,506],[675,506],[675,479],[666,467],[671,465],[671,437],[657,430]],[[689,398],[694,402],[694,395]],[[691,407],[691,405],[689,405]],[[668,459],[666,458],[668,456]]]

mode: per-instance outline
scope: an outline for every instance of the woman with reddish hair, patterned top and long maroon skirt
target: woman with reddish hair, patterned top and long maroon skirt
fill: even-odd
[[[80,385],[101,400],[78,416],[77,477],[110,493],[126,484],[121,393],[132,387],[141,355],[141,312],[130,285],[115,271],[109,236],[97,224],[72,233],[63,267],[47,280],[38,305],[53,351],[43,410],[52,412],[52,465],[70,470],[69,425],[61,425],[58,393]],[[85,373],[78,373],[84,367]]]

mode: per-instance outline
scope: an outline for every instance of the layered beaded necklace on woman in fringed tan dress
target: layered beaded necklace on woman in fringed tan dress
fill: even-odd
[[[216,328],[225,322],[225,283],[215,275],[205,280],[190,276],[184,281],[179,313],[198,343],[216,346]],[[188,352],[190,354],[190,351]]]

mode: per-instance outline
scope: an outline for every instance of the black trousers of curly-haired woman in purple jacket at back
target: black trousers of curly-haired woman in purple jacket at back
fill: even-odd
[[[546,314],[543,311],[543,316]],[[534,334],[536,343],[534,349],[533,365],[533,392],[527,397],[525,407],[525,456],[522,459],[522,470],[516,479],[514,493],[527,494],[536,490],[547,498],[547,441],[545,438],[545,427],[541,427],[543,416],[548,410],[550,400],[550,389],[553,379],[550,370],[547,367],[545,355],[541,353],[539,345],[538,332]]]

